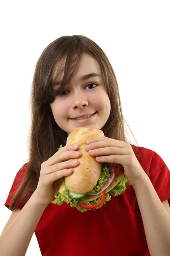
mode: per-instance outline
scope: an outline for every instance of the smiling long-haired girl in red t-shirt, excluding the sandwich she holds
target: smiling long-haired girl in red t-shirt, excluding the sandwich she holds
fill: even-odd
[[[49,44],[36,65],[31,110],[29,162],[5,203],[12,214],[0,255],[25,255],[35,231],[43,256],[169,256],[170,172],[156,152],[128,143],[116,77],[102,49],[82,35]],[[86,212],[51,203],[57,181],[79,165],[79,147],[65,146],[77,127],[104,132],[86,150],[101,163],[121,164],[129,184]]]

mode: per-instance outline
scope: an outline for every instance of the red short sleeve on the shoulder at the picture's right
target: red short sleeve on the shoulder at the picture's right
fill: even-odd
[[[161,202],[168,200],[170,205],[170,170],[157,153],[153,154],[150,180]]]

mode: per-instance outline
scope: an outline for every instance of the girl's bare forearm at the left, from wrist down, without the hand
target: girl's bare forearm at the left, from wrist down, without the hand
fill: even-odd
[[[0,236],[0,256],[24,256],[31,237],[46,208],[38,205],[35,194]],[[34,213],[34,214],[33,214]]]

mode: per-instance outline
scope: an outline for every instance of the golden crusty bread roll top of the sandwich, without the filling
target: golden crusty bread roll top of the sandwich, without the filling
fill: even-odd
[[[104,137],[101,130],[91,128],[77,128],[68,135],[67,145],[79,145],[82,156],[79,165],[73,168],[73,173],[65,177],[65,185],[71,192],[82,194],[91,191],[96,186],[101,175],[102,163],[91,157],[85,150],[85,142],[94,137]]]

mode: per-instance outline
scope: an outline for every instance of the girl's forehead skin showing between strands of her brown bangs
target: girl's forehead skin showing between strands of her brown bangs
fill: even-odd
[[[57,78],[57,81],[61,81],[64,76],[64,69],[65,69],[65,61],[66,57],[58,63],[54,69],[53,79],[55,80]],[[76,61],[76,60],[75,60]],[[71,70],[68,71],[68,76],[71,74],[71,72],[74,69],[75,61],[71,64]],[[79,60],[78,66],[76,70],[74,71],[73,77],[75,79],[81,79],[82,76],[85,76],[86,74],[90,73],[98,73],[101,74],[101,70],[99,67],[98,61],[91,55],[87,53],[83,53],[82,57]]]

